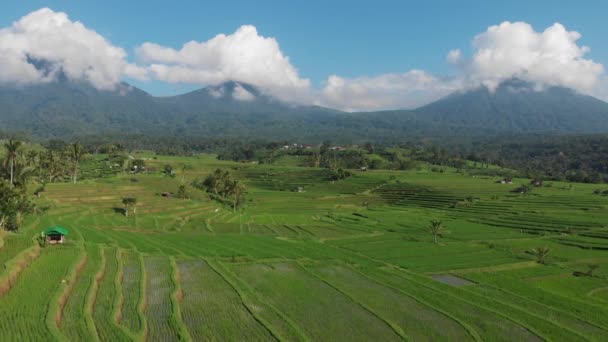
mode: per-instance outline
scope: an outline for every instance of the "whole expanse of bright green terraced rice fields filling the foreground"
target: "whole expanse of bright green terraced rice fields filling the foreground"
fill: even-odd
[[[0,236],[0,341],[608,339],[608,200],[595,185],[523,196],[510,190],[529,180],[454,170],[331,182],[291,161],[150,160],[167,163],[189,165],[186,184],[231,170],[245,208],[194,188],[163,198],[181,177],[95,164],[79,184],[47,185],[48,210]],[[138,199],[128,218],[125,196]],[[431,220],[449,231],[438,244]],[[53,225],[68,242],[38,247]],[[545,246],[539,264],[530,251]]]

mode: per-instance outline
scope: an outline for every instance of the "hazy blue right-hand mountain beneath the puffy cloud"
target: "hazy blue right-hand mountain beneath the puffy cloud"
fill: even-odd
[[[495,92],[481,87],[455,93],[414,113],[428,122],[490,132],[608,132],[608,103],[566,88],[537,91],[519,80],[504,82]]]

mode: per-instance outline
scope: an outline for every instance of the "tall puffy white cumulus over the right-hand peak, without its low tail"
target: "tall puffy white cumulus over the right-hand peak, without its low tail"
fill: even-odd
[[[593,93],[604,67],[591,59],[581,35],[556,23],[543,32],[523,22],[491,26],[473,40],[474,54],[464,65],[464,77],[472,85],[495,89],[502,81],[520,78],[543,86],[564,86]]]

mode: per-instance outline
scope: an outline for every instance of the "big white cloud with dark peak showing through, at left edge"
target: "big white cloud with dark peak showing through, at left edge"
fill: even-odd
[[[50,82],[60,75],[99,89],[115,89],[123,76],[146,78],[126,52],[67,14],[42,8],[0,29],[0,82]]]

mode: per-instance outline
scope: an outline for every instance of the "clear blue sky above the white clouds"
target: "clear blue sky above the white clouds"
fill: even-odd
[[[605,1],[18,1],[0,6],[0,27],[42,7],[82,22],[134,63],[144,42],[179,50],[188,41],[253,25],[260,36],[276,38],[313,89],[330,75],[351,79],[417,69],[451,77],[462,71],[446,62],[447,53],[458,48],[473,54],[473,38],[504,21],[522,21],[538,32],[559,22],[582,35],[577,44],[591,48],[586,59],[608,62]],[[127,79],[155,95],[201,86]]]

